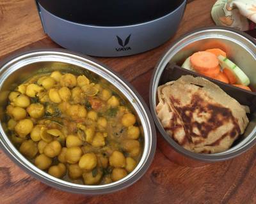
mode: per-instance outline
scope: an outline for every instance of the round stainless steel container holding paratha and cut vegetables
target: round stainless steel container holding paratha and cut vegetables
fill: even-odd
[[[244,73],[250,77],[252,87],[256,88],[255,40],[247,34],[235,29],[228,29],[227,27],[207,27],[182,36],[182,38],[175,41],[163,57],[161,57],[152,75],[150,84],[150,110],[157,128],[161,132],[164,140],[168,143],[168,145],[163,145],[163,152],[166,152],[168,157],[180,164],[188,165],[191,161],[195,163],[195,161],[212,162],[227,160],[250,149],[256,142],[256,113],[250,115],[250,123],[242,136],[243,140],[237,145],[234,145],[231,149],[218,154],[197,154],[184,149],[166,134],[161,122],[157,119],[155,111],[157,105],[157,87],[160,85],[159,82],[161,81],[166,64],[168,64],[168,62],[175,62],[180,65],[180,63],[184,62],[184,60],[194,52],[216,47],[225,48],[225,50],[227,50],[227,55],[230,56],[229,58],[240,68],[243,68]],[[169,151],[172,153],[168,153],[166,149],[167,146],[172,149]],[[174,155],[176,155],[176,159],[173,158]],[[179,156],[178,159],[177,155]]]

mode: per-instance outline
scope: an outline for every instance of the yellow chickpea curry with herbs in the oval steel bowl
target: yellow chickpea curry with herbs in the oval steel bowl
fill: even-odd
[[[38,74],[8,96],[8,135],[54,177],[87,185],[120,180],[140,161],[143,129],[114,90],[90,74]]]

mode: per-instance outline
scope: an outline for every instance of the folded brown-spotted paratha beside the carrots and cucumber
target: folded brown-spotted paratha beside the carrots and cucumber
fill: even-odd
[[[166,133],[193,152],[229,149],[249,122],[244,106],[202,77],[180,77],[159,86],[157,94],[157,117]]]

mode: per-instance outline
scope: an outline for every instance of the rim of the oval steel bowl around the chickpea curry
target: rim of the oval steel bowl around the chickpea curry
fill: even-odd
[[[0,68],[3,68],[4,66],[6,66],[6,64],[8,64],[12,61],[15,61],[17,59],[18,59],[18,62],[19,62],[19,58],[22,57],[22,56],[26,56],[26,55],[29,55],[29,54],[36,54],[38,52],[45,52],[45,53],[47,53],[47,52],[56,52],[56,53],[59,53],[59,54],[70,54],[70,55],[74,55],[76,57],[80,57],[80,58],[82,57],[85,61],[93,62],[94,64],[97,64],[97,65],[101,66],[102,68],[106,69],[107,71],[109,71],[109,73],[111,73],[111,75],[115,75],[115,77],[110,76],[111,78],[116,78],[116,79],[122,81],[128,87],[128,89],[127,89],[127,87],[125,87],[125,90],[127,92],[131,92],[131,94],[135,95],[136,98],[138,99],[138,101],[141,103],[141,106],[140,105],[137,105],[137,106],[143,109],[143,112],[144,112],[143,114],[145,115],[145,117],[147,117],[147,121],[145,121],[145,122],[148,122],[147,125],[150,128],[149,133],[151,133],[151,135],[148,135],[148,138],[150,140],[150,144],[149,144],[148,147],[150,149],[147,152],[148,154],[145,157],[144,163],[142,163],[143,165],[141,165],[140,168],[138,168],[138,171],[135,171],[132,174],[131,177],[128,177],[129,179],[125,179],[126,178],[125,177],[124,179],[122,179],[123,181],[120,180],[122,182],[112,182],[109,185],[108,184],[94,185],[94,186],[77,185],[78,187],[74,187],[76,185],[74,185],[72,182],[65,182],[61,179],[56,179],[55,177],[52,177],[48,173],[45,173],[44,171],[39,170],[38,168],[36,168],[34,164],[30,163],[25,157],[23,157],[19,153],[19,150],[14,148],[15,151],[18,152],[19,154],[15,154],[15,151],[13,152],[13,150],[12,150],[12,152],[10,152],[9,149],[13,149],[14,146],[9,146],[9,145],[6,146],[6,140],[4,140],[4,141],[0,140],[0,148],[3,149],[3,151],[6,153],[6,155],[8,157],[10,157],[10,159],[12,159],[12,161],[14,161],[16,164],[18,164],[22,168],[22,170],[25,170],[27,173],[29,173],[29,175],[32,175],[36,179],[40,180],[41,182],[44,182],[45,184],[48,184],[49,186],[56,187],[56,188],[64,190],[64,191],[69,191],[71,193],[106,194],[106,193],[112,193],[114,191],[118,191],[120,189],[124,189],[125,187],[129,187],[132,184],[134,184],[134,182],[139,180],[146,173],[150,164],[152,163],[152,160],[154,158],[154,154],[156,152],[156,129],[155,129],[155,126],[154,126],[154,120],[152,119],[152,116],[150,114],[150,111],[149,111],[145,101],[140,96],[138,91],[136,91],[134,89],[134,87],[129,82],[127,82],[127,80],[125,80],[124,77],[122,77],[121,75],[119,75],[118,73],[116,73],[115,71],[110,69],[108,66],[104,65],[102,62],[99,62],[99,61],[93,59],[92,57],[88,57],[86,55],[79,54],[77,52],[72,52],[72,51],[69,51],[69,50],[65,50],[65,49],[62,49],[62,48],[31,49],[28,52],[19,52],[18,54],[10,55],[6,59],[4,59],[4,61],[2,61],[0,63]],[[38,62],[40,62],[40,61],[38,61]],[[15,69],[15,71],[17,71],[20,68],[22,68],[22,66]],[[81,68],[83,68],[83,67],[81,67]],[[83,68],[83,69],[86,69],[86,68]],[[97,69],[99,69],[99,68],[97,68]],[[0,71],[0,75],[3,76],[3,73],[5,73],[5,72],[6,72],[6,70]],[[12,73],[13,72],[14,71],[12,71]],[[12,75],[12,73],[10,73],[6,78],[10,77],[10,75]],[[102,76],[100,76],[100,77],[102,77]],[[5,78],[5,80],[6,80],[6,78]],[[1,84],[3,84],[3,82],[5,80],[3,80],[1,82]],[[111,83],[111,82],[109,82],[109,83]],[[1,129],[1,132],[4,133],[2,125],[0,126],[0,129]],[[2,133],[1,133],[1,135],[2,135]],[[4,136],[7,137],[7,135],[5,133],[4,133]],[[10,140],[8,140],[8,141],[10,142]],[[145,147],[143,149],[143,152],[144,151],[145,151]],[[24,159],[24,162],[23,161],[21,162],[21,159]],[[31,165],[34,166],[35,169],[29,168],[29,166],[31,166]],[[46,177],[43,177],[44,174],[46,175]],[[71,184],[71,185],[68,185],[68,184]],[[74,186],[72,186],[72,185],[74,185]],[[89,189],[86,189],[86,187],[89,187]],[[99,187],[101,187],[101,188],[99,188]]]

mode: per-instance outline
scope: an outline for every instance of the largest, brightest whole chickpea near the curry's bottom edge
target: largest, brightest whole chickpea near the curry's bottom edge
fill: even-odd
[[[81,170],[93,170],[97,166],[97,156],[94,153],[84,154],[78,163]]]

